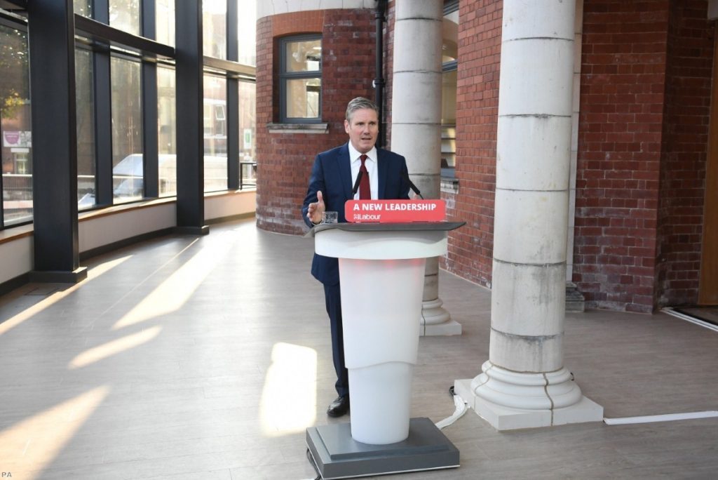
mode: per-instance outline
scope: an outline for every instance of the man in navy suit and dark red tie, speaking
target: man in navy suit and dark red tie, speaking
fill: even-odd
[[[336,211],[338,221],[345,222],[344,203],[347,200],[409,198],[406,160],[401,155],[375,147],[379,133],[376,104],[361,97],[350,101],[344,130],[349,135],[349,142],[317,154],[314,158],[309,188],[302,206],[302,216],[309,228],[322,221],[325,211]],[[360,171],[360,183],[363,185],[354,194],[352,187]],[[338,260],[314,254],[312,275],[324,285],[332,330],[332,356],[337,372],[335,387],[339,396],[330,404],[327,415],[340,417],[349,410],[349,378],[344,364]]]

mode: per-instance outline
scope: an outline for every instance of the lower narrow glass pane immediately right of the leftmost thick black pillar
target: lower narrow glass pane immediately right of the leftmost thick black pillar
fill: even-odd
[[[75,50],[75,109],[78,117],[78,209],[95,206],[95,99],[92,54]]]

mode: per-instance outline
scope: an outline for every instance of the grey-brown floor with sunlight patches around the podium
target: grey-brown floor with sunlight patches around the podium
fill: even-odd
[[[27,479],[309,479],[330,421],[328,320],[312,241],[253,221],[83,262],[78,285],[0,297],[0,474]],[[462,336],[419,343],[411,415],[488,359],[490,292],[442,272]],[[718,410],[718,333],[669,315],[570,314],[565,364],[606,417]],[[387,394],[390,394],[387,392]],[[461,467],[397,479],[718,478],[718,418],[498,433],[444,429]],[[394,477],[391,477],[394,478]]]

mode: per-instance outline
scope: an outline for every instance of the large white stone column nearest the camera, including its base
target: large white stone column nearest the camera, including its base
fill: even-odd
[[[498,430],[603,417],[564,367],[574,11],[503,2],[489,359],[456,383]]]

